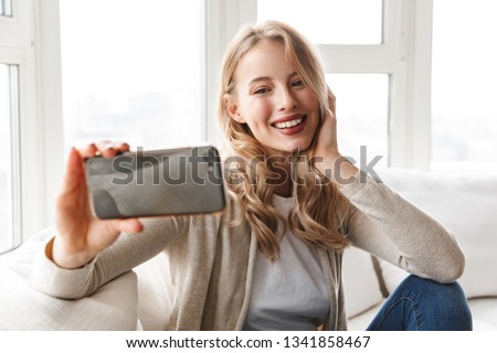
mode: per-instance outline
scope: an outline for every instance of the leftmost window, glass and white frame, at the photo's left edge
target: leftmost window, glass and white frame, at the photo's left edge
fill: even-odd
[[[50,188],[57,179],[45,172],[62,169],[50,148],[59,136],[49,133],[60,124],[44,118],[56,116],[46,98],[60,90],[56,69],[44,64],[59,63],[59,43],[44,34],[59,23],[46,15],[56,12],[56,2],[0,0],[0,253],[53,224]]]

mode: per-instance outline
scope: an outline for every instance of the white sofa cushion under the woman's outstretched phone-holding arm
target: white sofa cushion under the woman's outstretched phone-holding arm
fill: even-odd
[[[81,300],[62,300],[34,290],[29,277],[53,228],[34,235],[0,256],[0,330],[135,330],[138,322],[137,276],[129,271]],[[8,289],[8,290],[4,290]]]

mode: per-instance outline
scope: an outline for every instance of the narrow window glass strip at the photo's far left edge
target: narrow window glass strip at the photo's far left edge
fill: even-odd
[[[13,248],[17,244],[14,229],[14,164],[12,92],[17,89],[14,82],[17,66],[0,64],[0,254]],[[12,77],[13,76],[13,77]]]

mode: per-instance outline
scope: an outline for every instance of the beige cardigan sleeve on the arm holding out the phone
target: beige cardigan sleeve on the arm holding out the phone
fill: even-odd
[[[119,235],[117,240],[92,261],[77,269],[64,269],[46,256],[53,238],[35,259],[31,286],[52,297],[78,299],[91,296],[112,279],[152,258],[184,233],[183,217],[142,220],[144,231]]]

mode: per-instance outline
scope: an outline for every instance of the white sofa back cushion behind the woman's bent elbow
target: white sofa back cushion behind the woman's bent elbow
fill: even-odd
[[[459,284],[468,298],[497,296],[497,175],[389,169],[385,184],[446,226],[466,257]],[[381,261],[389,291],[406,276]]]

